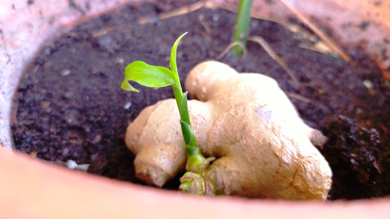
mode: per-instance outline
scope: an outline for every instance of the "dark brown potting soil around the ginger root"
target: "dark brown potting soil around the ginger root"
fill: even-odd
[[[134,176],[134,155],[123,142],[125,128],[145,106],[173,94],[170,87],[122,90],[124,68],[136,60],[168,67],[174,40],[189,31],[177,50],[183,84],[194,65],[215,58],[230,43],[232,12],[200,8],[163,20],[156,16],[191,2],[127,5],[47,43],[15,93],[16,149],[48,161],[90,163],[88,172],[142,183]],[[154,18],[140,24],[141,16]],[[299,25],[293,18],[291,22]],[[220,61],[240,72],[275,78],[301,117],[329,138],[321,149],[334,174],[329,198],[390,194],[390,92],[375,62],[361,48],[351,53],[352,63],[302,48],[295,33],[271,21],[252,19],[250,35],[262,36],[302,86],[294,86],[283,68],[252,41],[243,60],[227,53]],[[165,187],[177,186],[174,179]]]

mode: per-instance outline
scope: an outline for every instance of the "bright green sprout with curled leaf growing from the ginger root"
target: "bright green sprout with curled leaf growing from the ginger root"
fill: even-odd
[[[131,84],[129,80],[135,81],[143,86],[147,87],[164,87],[171,85],[173,89],[174,98],[177,103],[177,107],[180,113],[180,125],[181,132],[183,134],[185,149],[187,151],[187,162],[185,170],[191,174],[196,174],[196,177],[182,182],[179,189],[181,191],[190,192],[190,184],[198,177],[203,178],[202,172],[205,167],[208,166],[209,159],[206,159],[200,152],[196,143],[196,138],[193,133],[191,122],[189,120],[188,107],[187,107],[187,92],[183,92],[181,89],[180,79],[177,72],[176,65],[176,50],[180,39],[187,32],[180,35],[173,44],[170,52],[169,66],[170,69],[162,66],[149,65],[143,61],[134,61],[127,65],[124,71],[124,80],[121,84],[121,88],[128,91],[138,92]],[[190,174],[190,175],[191,175]],[[204,180],[203,180],[204,181]],[[199,193],[199,192],[197,192]],[[200,192],[201,193],[201,192]]]

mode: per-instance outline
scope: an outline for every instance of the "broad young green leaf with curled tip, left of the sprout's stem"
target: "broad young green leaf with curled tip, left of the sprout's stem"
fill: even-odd
[[[143,61],[134,61],[127,65],[121,85],[125,90],[138,92],[137,89],[128,83],[129,80],[147,87],[163,87],[174,82],[172,71],[168,68],[150,65]]]

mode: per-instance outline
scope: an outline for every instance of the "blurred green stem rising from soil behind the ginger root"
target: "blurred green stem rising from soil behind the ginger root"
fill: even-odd
[[[246,36],[249,29],[250,8],[253,0],[240,0],[237,11],[237,18],[234,25],[233,41],[239,41],[246,46]],[[232,47],[235,55],[242,55],[242,48],[239,45]]]

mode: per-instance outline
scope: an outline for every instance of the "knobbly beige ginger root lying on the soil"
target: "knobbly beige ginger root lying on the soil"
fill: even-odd
[[[331,170],[314,146],[326,138],[302,121],[275,80],[205,61],[189,72],[185,88],[197,99],[188,110],[200,151],[216,157],[203,171],[206,195],[326,199]],[[178,120],[176,101],[166,99],[127,127],[136,176],[149,184],[162,186],[185,168]]]

